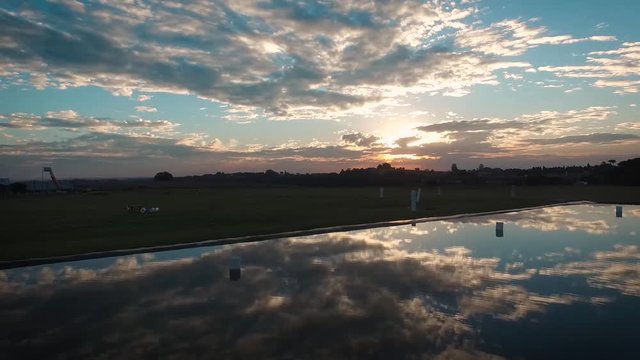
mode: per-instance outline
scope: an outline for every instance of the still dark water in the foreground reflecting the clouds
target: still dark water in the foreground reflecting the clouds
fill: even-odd
[[[0,359],[637,359],[639,233],[580,205],[5,270]]]

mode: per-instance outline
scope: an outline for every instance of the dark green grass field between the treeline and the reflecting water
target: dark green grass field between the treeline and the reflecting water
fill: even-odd
[[[640,203],[640,187],[140,189],[0,200],[0,260],[186,243],[318,227],[512,209],[574,200]],[[128,204],[160,212],[129,214]]]

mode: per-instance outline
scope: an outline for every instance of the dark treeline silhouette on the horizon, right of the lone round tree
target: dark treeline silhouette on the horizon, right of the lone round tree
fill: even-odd
[[[367,186],[367,185],[640,185],[640,158],[602,162],[598,165],[532,167],[500,169],[480,165],[477,169],[461,170],[456,164],[451,171],[394,168],[388,163],[371,168],[341,170],[339,173],[293,174],[267,170],[259,173],[223,173],[175,178],[178,182],[217,184],[281,184],[304,186]]]

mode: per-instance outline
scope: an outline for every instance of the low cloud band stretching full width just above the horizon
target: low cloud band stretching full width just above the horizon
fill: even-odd
[[[633,133],[635,124],[618,124],[617,132],[586,135],[579,129],[585,126],[602,128],[601,124],[615,113],[615,108],[598,106],[565,112],[541,111],[514,119],[421,125],[407,129],[410,132],[402,133],[403,136],[384,141],[376,135],[351,132],[342,133],[336,139],[337,143],[294,141],[269,146],[241,145],[233,139],[203,133],[180,133],[178,124],[167,120],[120,121],[87,117],[71,110],[49,112],[44,116],[14,113],[0,115],[0,129],[4,128],[8,134],[13,130],[35,132],[36,135],[46,130],[62,132],[60,138],[50,140],[8,139],[0,146],[0,156],[12,171],[43,159],[86,162],[86,166],[64,168],[73,176],[89,176],[89,170],[95,168],[89,165],[92,158],[111,162],[111,169],[115,171],[111,176],[122,176],[120,172],[125,163],[143,174],[144,169],[152,167],[151,159],[163,159],[178,174],[210,172],[206,164],[211,161],[221,171],[280,168],[309,172],[335,171],[336,168],[353,167],[354,163],[365,165],[381,161],[420,166],[417,161],[425,159],[429,159],[432,166],[442,167],[450,166],[452,162],[466,166],[463,164],[476,163],[480,158],[509,164],[514,159],[548,160],[549,153],[556,154],[555,159],[575,161],[576,156],[590,156],[588,154],[593,154],[594,149],[608,160],[617,151],[633,153],[634,144],[640,142],[638,135]],[[606,144],[607,149],[594,147],[594,144]],[[559,150],[562,146],[566,148]],[[116,166],[118,161],[122,162],[120,167]],[[101,165],[101,169],[107,171],[108,167]]]

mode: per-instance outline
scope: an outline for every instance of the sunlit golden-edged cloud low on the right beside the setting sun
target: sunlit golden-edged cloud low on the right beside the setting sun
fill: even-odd
[[[416,130],[426,133],[426,136],[436,135],[439,140],[389,149],[387,153],[407,158],[430,156],[446,164],[478,158],[505,160],[548,156],[549,153],[558,154],[556,147],[562,144],[573,146],[563,150],[563,156],[567,157],[590,153],[593,148],[588,146],[593,144],[609,144],[613,151],[631,151],[634,144],[639,143],[636,135],[580,133],[582,128],[606,128],[604,121],[615,114],[613,107],[592,106],[565,112],[540,111],[514,119],[473,119],[421,125]]]

